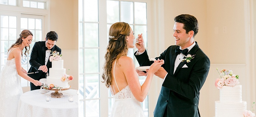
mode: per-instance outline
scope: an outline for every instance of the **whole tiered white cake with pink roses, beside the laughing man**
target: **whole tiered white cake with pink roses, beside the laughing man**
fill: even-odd
[[[220,100],[215,101],[215,117],[248,117],[246,115],[252,113],[246,110],[247,102],[242,101],[242,85],[238,78],[232,70],[222,69],[220,78],[215,80],[220,90]]]

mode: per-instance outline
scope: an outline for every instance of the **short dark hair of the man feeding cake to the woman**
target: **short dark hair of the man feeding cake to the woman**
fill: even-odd
[[[194,31],[194,36],[198,33],[198,21],[197,19],[189,14],[181,14],[174,18],[175,22],[184,24],[183,29],[186,30],[186,33],[188,34],[189,31]]]

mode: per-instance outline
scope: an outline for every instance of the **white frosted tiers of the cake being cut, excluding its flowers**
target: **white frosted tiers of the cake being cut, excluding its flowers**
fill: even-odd
[[[62,88],[69,88],[68,80],[61,80],[65,74],[66,68],[63,68],[63,60],[52,60],[52,68],[49,68],[49,76],[46,78],[46,83],[54,84]]]

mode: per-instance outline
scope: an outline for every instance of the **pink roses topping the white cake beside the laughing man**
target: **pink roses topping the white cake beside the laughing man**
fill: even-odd
[[[218,71],[218,68],[216,68]],[[219,71],[218,71],[219,73]],[[240,82],[238,81],[239,76],[233,74],[232,70],[228,69],[222,69],[219,73],[220,78],[217,78],[215,80],[215,86],[220,89],[222,86],[235,86],[239,84]]]

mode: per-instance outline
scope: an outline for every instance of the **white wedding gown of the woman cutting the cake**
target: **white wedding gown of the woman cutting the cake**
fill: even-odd
[[[17,117],[18,103],[22,93],[15,59],[6,60],[0,73],[0,117]]]

